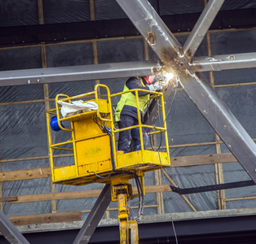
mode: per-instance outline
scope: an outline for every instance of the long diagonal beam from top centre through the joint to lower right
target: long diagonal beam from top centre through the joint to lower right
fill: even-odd
[[[117,0],[167,71],[179,75],[183,89],[256,183],[256,145],[210,83],[192,68],[174,35],[147,0]]]

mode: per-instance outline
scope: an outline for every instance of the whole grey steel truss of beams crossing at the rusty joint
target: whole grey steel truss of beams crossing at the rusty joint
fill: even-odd
[[[0,86],[88,81],[174,72],[184,91],[256,182],[256,146],[223,101],[198,72],[255,68],[256,53],[192,59],[224,0],[210,0],[182,47],[147,0],[117,0],[161,61],[104,63],[68,68],[0,72]],[[166,99],[170,95],[167,91]]]

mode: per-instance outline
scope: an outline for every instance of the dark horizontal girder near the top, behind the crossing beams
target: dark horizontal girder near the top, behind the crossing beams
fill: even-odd
[[[49,6],[48,8],[51,7]],[[255,13],[256,8],[253,4],[252,7],[245,9],[219,11],[210,26],[210,30],[254,27]],[[161,15],[161,19],[171,32],[183,33],[191,30],[200,16],[199,12],[186,12],[182,15]],[[33,22],[22,26],[18,24],[11,24],[9,27],[0,26],[0,46],[28,46],[38,43],[58,43],[139,35],[138,30],[129,19],[32,24]],[[123,28],[124,26],[126,28]]]

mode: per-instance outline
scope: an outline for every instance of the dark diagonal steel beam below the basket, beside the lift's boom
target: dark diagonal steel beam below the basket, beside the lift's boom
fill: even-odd
[[[87,244],[90,241],[90,237],[95,232],[95,229],[104,215],[104,212],[107,210],[110,202],[110,185],[106,184],[101,194],[99,194],[99,198],[95,202],[94,207],[92,207],[89,216],[87,216],[86,221],[82,225],[82,229],[77,234],[73,244]]]

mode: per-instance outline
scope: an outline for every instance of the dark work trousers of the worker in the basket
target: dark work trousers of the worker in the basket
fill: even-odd
[[[139,121],[130,115],[121,115],[118,122],[119,129],[130,127],[139,124]],[[130,152],[131,141],[135,142],[134,150],[141,150],[139,128],[121,131],[118,139],[118,150],[123,150],[124,153]]]

